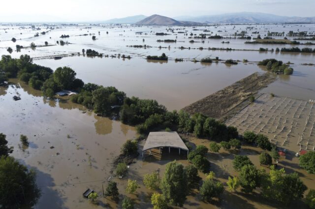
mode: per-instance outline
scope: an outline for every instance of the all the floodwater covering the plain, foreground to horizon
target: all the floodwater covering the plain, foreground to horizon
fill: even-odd
[[[103,86],[115,86],[126,92],[127,96],[136,96],[143,99],[155,99],[165,105],[169,110],[181,109],[203,97],[215,93],[231,85],[239,79],[245,78],[254,72],[263,73],[265,70],[256,65],[257,61],[266,58],[276,58],[284,62],[290,61],[294,68],[291,76],[277,76],[278,80],[262,89],[263,93],[274,93],[277,96],[289,97],[309,101],[315,99],[315,67],[304,66],[304,63],[315,64],[314,53],[282,53],[257,51],[212,51],[209,47],[232,48],[238,50],[258,50],[260,47],[276,49],[283,47],[309,47],[315,45],[265,45],[244,44],[243,39],[227,39],[234,37],[234,33],[242,30],[248,32],[246,36],[256,37],[257,31],[264,37],[268,31],[287,33],[308,31],[314,34],[315,24],[266,24],[266,25],[213,25],[207,27],[167,27],[167,26],[108,26],[79,24],[75,26],[37,24],[32,30],[31,25],[0,25],[0,55],[10,54],[7,48],[14,51],[12,57],[21,54],[30,54],[33,62],[43,66],[57,67],[69,66],[77,73],[77,78],[84,82],[93,82]],[[48,27],[48,28],[47,28]],[[251,27],[251,28],[248,28]],[[171,28],[171,29],[169,29]],[[171,30],[174,30],[174,33]],[[203,30],[211,32],[203,32]],[[46,31],[45,35],[40,32]],[[47,32],[48,31],[48,32]],[[39,33],[34,37],[35,33]],[[99,33],[98,33],[99,32]],[[108,34],[106,33],[108,32]],[[136,32],[143,32],[138,34]],[[170,35],[157,36],[157,32]],[[185,32],[188,36],[184,35]],[[222,35],[226,39],[193,39],[189,43],[189,34],[206,33]],[[91,34],[90,34],[91,33]],[[60,38],[61,35],[69,38]],[[89,34],[83,36],[83,34]],[[92,35],[96,40],[92,40]],[[12,37],[17,41],[13,43]],[[280,38],[283,37],[274,37]],[[143,41],[144,39],[144,41]],[[158,39],[176,39],[176,43],[157,42]],[[292,39],[292,37],[288,37]],[[68,42],[64,46],[57,41]],[[202,41],[204,40],[204,43]],[[45,41],[48,46],[44,46]],[[229,41],[230,43],[221,43]],[[34,42],[38,47],[31,49],[28,46]],[[307,41],[300,41],[305,43]],[[310,41],[315,42],[315,41]],[[16,52],[16,45],[25,49]],[[132,48],[130,45],[149,45],[152,48]],[[39,47],[40,46],[40,47]],[[161,46],[161,48],[159,48]],[[180,47],[191,48],[179,49]],[[199,48],[204,48],[200,50]],[[194,48],[194,49],[193,49]],[[93,49],[108,54],[109,57],[87,57],[82,55],[82,49]],[[80,55],[79,55],[80,53]],[[169,60],[147,61],[147,55],[160,55],[165,53]],[[118,58],[118,54],[130,55],[131,59]],[[52,56],[69,55],[60,60],[50,59]],[[111,57],[113,55],[113,57]],[[47,57],[50,56],[50,57]],[[116,57],[115,57],[116,56]],[[222,60],[240,60],[238,65],[225,65],[219,63],[203,64],[192,62],[192,59],[201,59],[210,56]],[[183,58],[184,62],[175,62],[175,58]],[[248,63],[243,63],[248,59]],[[97,208],[88,200],[82,198],[87,188],[95,189],[102,195],[102,184],[106,186],[111,176],[112,161],[119,155],[121,145],[126,139],[134,138],[134,127],[123,125],[118,121],[96,116],[87,111],[82,105],[72,104],[67,98],[57,101],[45,100],[39,91],[20,83],[17,79],[11,80],[16,85],[8,88],[0,87],[0,132],[7,135],[9,146],[14,146],[12,156],[20,159],[29,167],[37,171],[37,184],[42,189],[42,197],[36,208]],[[13,101],[12,96],[20,94],[22,100]],[[85,113],[82,113],[86,111]],[[5,121],[5,123],[3,123]],[[29,137],[30,146],[22,147],[19,141],[20,134]],[[208,140],[192,139],[195,145],[205,144]],[[50,149],[53,146],[52,149]],[[139,147],[141,150],[141,146]],[[248,155],[254,164],[259,166],[256,148],[245,147],[241,155]],[[225,151],[219,154],[209,154],[212,170],[217,173],[220,181],[227,181],[227,174],[237,175],[233,172],[231,161],[235,153]],[[163,174],[165,164],[177,159],[187,164],[185,154],[178,157],[175,150],[170,155],[158,160],[147,157],[140,158],[129,169],[128,178],[136,179],[140,183],[137,196],[129,195],[135,199],[141,208],[150,208],[150,191],[141,184],[142,176],[148,172],[155,172],[160,168]],[[309,188],[315,188],[314,175],[308,175],[299,169],[297,158],[283,159],[280,165],[287,172],[296,171]],[[126,179],[119,180],[119,190],[124,194]],[[120,198],[122,199],[122,195]],[[223,193],[223,200],[212,205],[200,201],[200,197],[189,196],[185,208],[235,208],[233,203],[239,203],[240,208],[277,208],[268,201],[260,200],[257,196],[242,196],[241,193]],[[119,208],[115,202],[108,198],[99,198],[98,208]],[[121,204],[121,203],[119,203]],[[233,204],[233,205],[231,205]]]

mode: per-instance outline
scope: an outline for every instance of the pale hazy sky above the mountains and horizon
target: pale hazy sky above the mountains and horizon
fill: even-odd
[[[311,17],[315,0],[3,0],[0,22],[93,22],[133,15],[167,17],[262,12]]]

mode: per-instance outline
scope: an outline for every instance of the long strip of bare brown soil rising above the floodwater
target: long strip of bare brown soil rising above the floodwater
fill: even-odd
[[[189,114],[202,113],[208,117],[225,120],[243,108],[251,95],[275,81],[271,74],[254,73],[224,89],[183,108]]]

